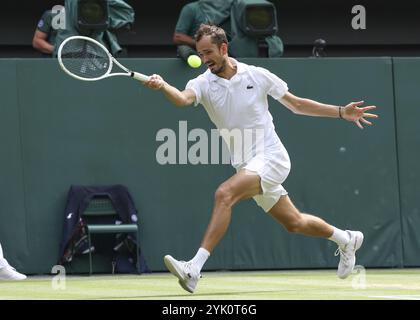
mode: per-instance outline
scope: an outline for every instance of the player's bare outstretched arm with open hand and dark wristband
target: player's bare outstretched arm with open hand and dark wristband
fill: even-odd
[[[363,129],[362,124],[372,125],[372,122],[365,118],[378,118],[376,114],[367,112],[375,109],[376,106],[359,107],[364,101],[351,102],[343,107],[300,98],[290,92],[287,92],[279,101],[296,114],[315,117],[342,118],[354,122],[360,129]]]

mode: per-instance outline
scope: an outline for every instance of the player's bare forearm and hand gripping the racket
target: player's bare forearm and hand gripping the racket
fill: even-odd
[[[193,90],[186,89],[184,91],[179,91],[157,74],[151,75],[149,80],[143,82],[143,84],[150,89],[162,91],[166,98],[177,107],[189,106],[195,101],[195,93]]]

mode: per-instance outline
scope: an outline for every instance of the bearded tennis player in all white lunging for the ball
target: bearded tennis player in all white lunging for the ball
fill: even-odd
[[[237,173],[215,192],[211,220],[197,254],[187,262],[167,255],[164,257],[166,267],[179,279],[182,288],[193,293],[204,263],[229,226],[232,207],[238,201],[252,197],[289,232],[334,241],[338,245],[336,255],[340,254],[337,275],[346,278],[354,268],[355,253],[362,245],[363,234],[338,229],[316,216],[301,213],[293,205],[282,186],[290,171],[290,159],[275,132],[267,95],[296,114],[342,118],[361,129],[363,125],[372,125],[367,118],[377,118],[368,113],[375,106],[361,107],[363,101],[335,106],[293,95],[287,84],[270,71],[230,58],[226,34],[219,27],[201,25],[195,40],[197,52],[208,70],[190,80],[184,91],[156,74],[144,84],[162,91],[178,107],[202,104],[219,131],[251,129],[262,130],[263,135],[255,134],[252,143],[238,143],[237,139],[222,135]]]

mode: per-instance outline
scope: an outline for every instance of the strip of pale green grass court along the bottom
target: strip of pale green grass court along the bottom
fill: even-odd
[[[65,290],[54,290],[51,276],[33,276],[0,282],[0,299],[420,300],[420,269],[367,269],[364,289],[358,279],[338,279],[335,270],[204,272],[191,295],[169,273],[67,276]]]

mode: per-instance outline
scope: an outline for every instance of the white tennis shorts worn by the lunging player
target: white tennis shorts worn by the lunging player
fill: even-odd
[[[266,148],[263,154],[255,156],[240,166],[235,166],[235,169],[236,171],[246,169],[260,176],[263,193],[253,198],[265,212],[268,212],[281,196],[287,194],[282,183],[289,175],[290,167],[289,154],[280,142]]]

